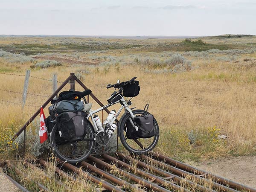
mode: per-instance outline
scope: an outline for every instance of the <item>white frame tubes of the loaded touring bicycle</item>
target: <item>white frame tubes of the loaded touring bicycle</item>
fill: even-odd
[[[122,97],[122,99],[120,99],[120,100],[118,100],[118,101],[116,101],[116,102],[114,102],[114,103],[105,105],[105,106],[103,106],[103,107],[101,107],[101,108],[99,108],[99,109],[96,109],[95,111],[93,111],[93,110],[90,110],[90,111],[89,111],[89,115],[87,116],[87,119],[89,119],[89,117],[91,118],[91,120],[92,120],[92,122],[93,122],[93,129],[94,129],[94,132],[95,132],[95,133],[99,132],[99,129],[98,129],[97,125],[96,125],[95,120],[93,119],[93,114],[98,113],[99,111],[102,111],[103,109],[108,108],[108,107],[110,107],[110,106],[112,106],[112,105],[115,105],[116,103],[121,103],[121,107],[120,107],[120,109],[116,112],[115,116],[113,117],[113,119],[112,119],[111,122],[109,123],[110,125],[113,124],[113,122],[114,122],[114,121],[116,120],[116,118],[119,116],[119,114],[121,113],[121,111],[122,111],[123,108],[125,108],[125,110],[128,111],[128,112],[131,114],[131,116],[134,118],[134,114],[132,113],[131,109],[129,108],[129,105],[127,104],[127,102],[125,101],[125,99]],[[102,122],[102,123],[103,123],[103,122]]]

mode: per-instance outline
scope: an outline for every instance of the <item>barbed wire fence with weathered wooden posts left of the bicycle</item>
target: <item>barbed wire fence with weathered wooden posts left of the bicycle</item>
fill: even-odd
[[[3,88],[0,89],[0,92],[15,93],[15,94],[22,95],[21,103],[13,102],[13,101],[9,101],[9,100],[5,100],[5,99],[0,98],[0,102],[4,102],[4,103],[8,103],[8,104],[15,104],[15,105],[22,105],[22,108],[24,108],[24,106],[33,107],[33,108],[39,108],[40,107],[40,106],[35,106],[35,105],[25,105],[27,95],[40,96],[42,98],[49,98],[50,97],[50,95],[41,95],[41,94],[38,94],[38,93],[30,93],[28,91],[29,77],[34,78],[34,79],[40,79],[40,80],[43,80],[43,81],[52,82],[52,93],[54,93],[55,90],[57,89],[57,87],[58,87],[57,83],[63,83],[63,81],[57,81],[57,75],[56,74],[53,74],[52,79],[45,79],[45,78],[41,78],[41,77],[31,76],[30,75],[30,70],[26,70],[26,75],[20,75],[20,74],[15,74],[15,73],[3,73],[3,72],[0,72],[0,75],[25,77],[23,92],[19,92],[19,91],[15,91],[15,90],[5,90]]]

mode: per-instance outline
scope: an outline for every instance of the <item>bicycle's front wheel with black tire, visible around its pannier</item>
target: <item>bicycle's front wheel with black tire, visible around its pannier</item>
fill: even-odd
[[[146,115],[146,114],[150,114],[148,113],[147,111],[144,111],[144,110],[140,110],[140,109],[137,109],[137,110],[134,110],[132,111],[132,113],[136,116],[136,115]],[[143,147],[142,148],[138,143],[136,143],[136,141],[132,141],[132,140],[129,140],[129,139],[125,139],[125,122],[127,120],[129,120],[129,118],[131,118],[131,114],[130,113],[126,113],[124,116],[121,117],[120,119],[120,122],[119,122],[119,137],[120,137],[120,140],[121,140],[121,143],[122,145],[131,153],[134,153],[134,154],[146,154],[148,153],[149,151],[151,151],[156,145],[157,145],[157,142],[158,142],[158,139],[159,139],[159,126],[157,124],[157,120],[154,118],[154,128],[155,128],[155,131],[157,132],[157,134],[151,138],[138,138],[137,141],[140,142],[140,144],[142,143],[149,143],[148,146]],[[145,142],[147,141],[147,142]]]

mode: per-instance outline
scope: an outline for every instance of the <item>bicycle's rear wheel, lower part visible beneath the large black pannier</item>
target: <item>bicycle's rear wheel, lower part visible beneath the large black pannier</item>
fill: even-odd
[[[65,141],[61,139],[58,127],[55,125],[51,132],[51,145],[54,154],[72,164],[85,160],[91,154],[95,142],[90,123],[86,125],[86,129],[87,134],[83,140]]]

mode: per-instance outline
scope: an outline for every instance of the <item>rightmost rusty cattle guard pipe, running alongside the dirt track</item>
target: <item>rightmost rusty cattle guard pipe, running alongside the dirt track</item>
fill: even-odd
[[[189,165],[186,165],[185,163],[181,163],[180,161],[171,159],[170,157],[165,157],[162,154],[159,154],[159,153],[156,153],[156,152],[151,152],[151,155],[154,158],[157,158],[157,159],[159,159],[163,162],[169,163],[170,165],[175,166],[179,169],[183,169],[187,172],[191,172],[191,173],[194,173],[194,174],[197,174],[197,175],[204,175],[204,177],[205,176],[212,177],[212,179],[216,183],[220,183],[221,185],[225,185],[225,186],[231,187],[233,189],[246,190],[248,192],[256,192],[256,189],[253,189],[252,187],[245,186],[243,184],[240,184],[240,183],[237,183],[235,181],[226,179],[224,177],[214,175],[214,174],[209,173],[209,172],[205,172],[205,171],[197,169],[193,166],[189,166]]]

